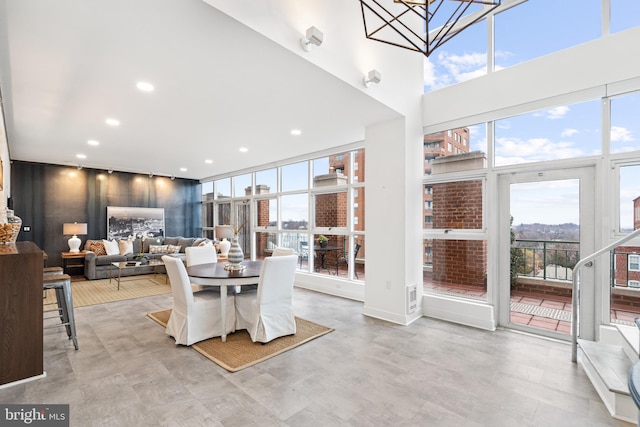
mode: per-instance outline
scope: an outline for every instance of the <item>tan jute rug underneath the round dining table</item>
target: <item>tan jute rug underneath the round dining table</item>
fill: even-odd
[[[166,327],[171,309],[148,313],[160,326]],[[276,338],[266,344],[254,343],[246,330],[227,335],[227,341],[220,337],[210,338],[191,347],[207,359],[217,363],[229,372],[237,372],[263,360],[269,359],[292,348],[298,347],[333,331],[332,328],[296,317],[296,334]]]

